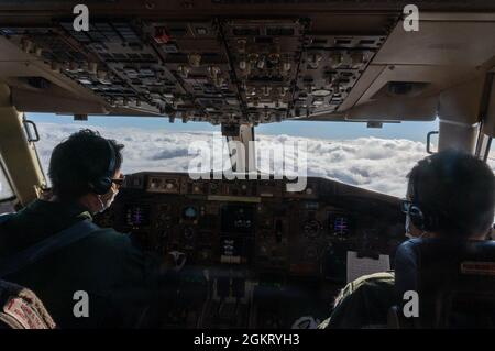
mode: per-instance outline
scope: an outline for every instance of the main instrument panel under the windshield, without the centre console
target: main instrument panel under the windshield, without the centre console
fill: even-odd
[[[404,234],[394,198],[322,178],[301,193],[286,185],[139,173],[99,221],[147,250],[185,253],[188,264],[336,282],[348,250],[392,253]]]

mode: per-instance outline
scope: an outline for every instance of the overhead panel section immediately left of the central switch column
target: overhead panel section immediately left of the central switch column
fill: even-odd
[[[166,69],[184,88],[183,95],[173,96],[173,113],[213,124],[241,119],[238,87],[215,21],[152,22],[144,30]]]

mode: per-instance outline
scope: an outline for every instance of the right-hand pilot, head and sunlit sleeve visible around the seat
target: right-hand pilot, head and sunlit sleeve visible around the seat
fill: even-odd
[[[495,177],[481,160],[449,150],[418,162],[408,175],[406,237],[446,240],[486,240],[495,216]],[[415,224],[414,206],[436,219],[437,229]],[[373,328],[387,323],[396,303],[394,272],[376,273],[349,283],[333,311],[319,328]]]

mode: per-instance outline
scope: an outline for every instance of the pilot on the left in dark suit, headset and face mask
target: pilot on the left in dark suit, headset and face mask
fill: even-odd
[[[58,144],[50,162],[52,196],[34,200],[0,226],[0,259],[90,222],[109,208],[123,182],[122,149],[91,130]],[[161,260],[127,234],[91,226],[79,240],[2,278],[35,292],[61,328],[140,327]]]

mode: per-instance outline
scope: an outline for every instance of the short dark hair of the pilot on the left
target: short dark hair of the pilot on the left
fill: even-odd
[[[107,175],[113,147],[116,165],[112,173],[122,165],[123,145],[100,136],[97,131],[80,130],[63,141],[52,152],[48,175],[53,194],[61,200],[75,200],[91,191],[90,183]]]

